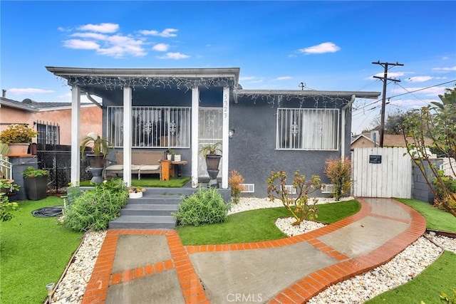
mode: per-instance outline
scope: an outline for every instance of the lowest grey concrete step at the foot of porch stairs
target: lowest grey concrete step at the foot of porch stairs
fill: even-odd
[[[120,216],[109,222],[109,229],[174,229],[173,216]]]

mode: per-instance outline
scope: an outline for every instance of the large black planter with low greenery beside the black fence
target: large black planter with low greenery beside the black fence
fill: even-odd
[[[48,192],[49,171],[29,166],[22,174],[24,175],[24,186],[28,199],[32,201],[45,199]]]

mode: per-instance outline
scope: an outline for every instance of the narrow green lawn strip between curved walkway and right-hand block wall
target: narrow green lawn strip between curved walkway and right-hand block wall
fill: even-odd
[[[420,212],[426,219],[427,229],[456,233],[456,217],[449,212],[435,208],[431,204],[417,199],[397,200]]]

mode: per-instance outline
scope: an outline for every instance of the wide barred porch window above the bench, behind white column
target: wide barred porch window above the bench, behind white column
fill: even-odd
[[[108,107],[108,140],[123,146],[123,107]],[[132,107],[132,147],[190,147],[190,108]]]

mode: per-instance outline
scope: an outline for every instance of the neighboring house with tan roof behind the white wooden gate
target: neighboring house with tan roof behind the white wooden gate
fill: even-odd
[[[408,142],[413,142],[412,137],[407,137]],[[371,134],[368,133],[355,136],[351,141],[351,149],[354,148],[368,148],[368,147],[378,147],[378,142],[380,142],[380,137],[378,136],[378,131],[371,131]],[[425,138],[426,146],[432,146],[434,142],[430,138]],[[405,140],[403,135],[383,135],[383,147],[406,147]]]

